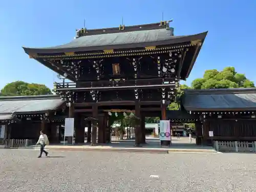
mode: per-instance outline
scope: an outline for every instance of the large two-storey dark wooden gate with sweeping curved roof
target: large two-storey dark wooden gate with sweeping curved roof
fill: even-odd
[[[137,144],[145,142],[145,116],[166,119],[166,105],[174,101],[179,81],[189,76],[207,35],[175,36],[169,24],[78,29],[68,44],[24,47],[30,58],[73,81],[56,83],[55,91],[75,118],[77,143],[84,142],[83,125],[91,122],[92,145],[96,126],[98,143],[109,142],[109,112],[135,113]]]

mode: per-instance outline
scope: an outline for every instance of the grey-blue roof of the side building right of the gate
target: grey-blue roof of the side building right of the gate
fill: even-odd
[[[256,89],[186,90],[182,105],[187,111],[256,110]]]

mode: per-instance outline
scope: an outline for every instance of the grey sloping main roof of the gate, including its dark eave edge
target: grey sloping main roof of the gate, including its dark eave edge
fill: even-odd
[[[24,50],[26,53],[59,53],[97,51],[105,49],[129,49],[136,47],[179,44],[182,42],[188,42],[198,39],[204,40],[206,35],[207,32],[196,35],[173,36],[171,30],[163,28],[153,30],[86,35],[74,39],[68,44],[60,46],[46,48],[24,47]]]

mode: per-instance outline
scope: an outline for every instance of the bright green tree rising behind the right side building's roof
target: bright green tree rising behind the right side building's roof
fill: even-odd
[[[237,73],[234,67],[226,67],[222,71],[206,70],[203,78],[197,78],[191,83],[193,89],[220,88],[254,88],[254,83],[244,74]]]

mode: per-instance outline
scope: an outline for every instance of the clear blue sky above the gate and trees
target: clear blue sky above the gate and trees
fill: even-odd
[[[186,84],[207,69],[233,66],[256,82],[255,0],[13,0],[0,4],[0,88],[15,80],[52,88],[56,74],[22,49],[61,45],[75,29],[117,27],[174,19],[175,35],[209,31]]]

